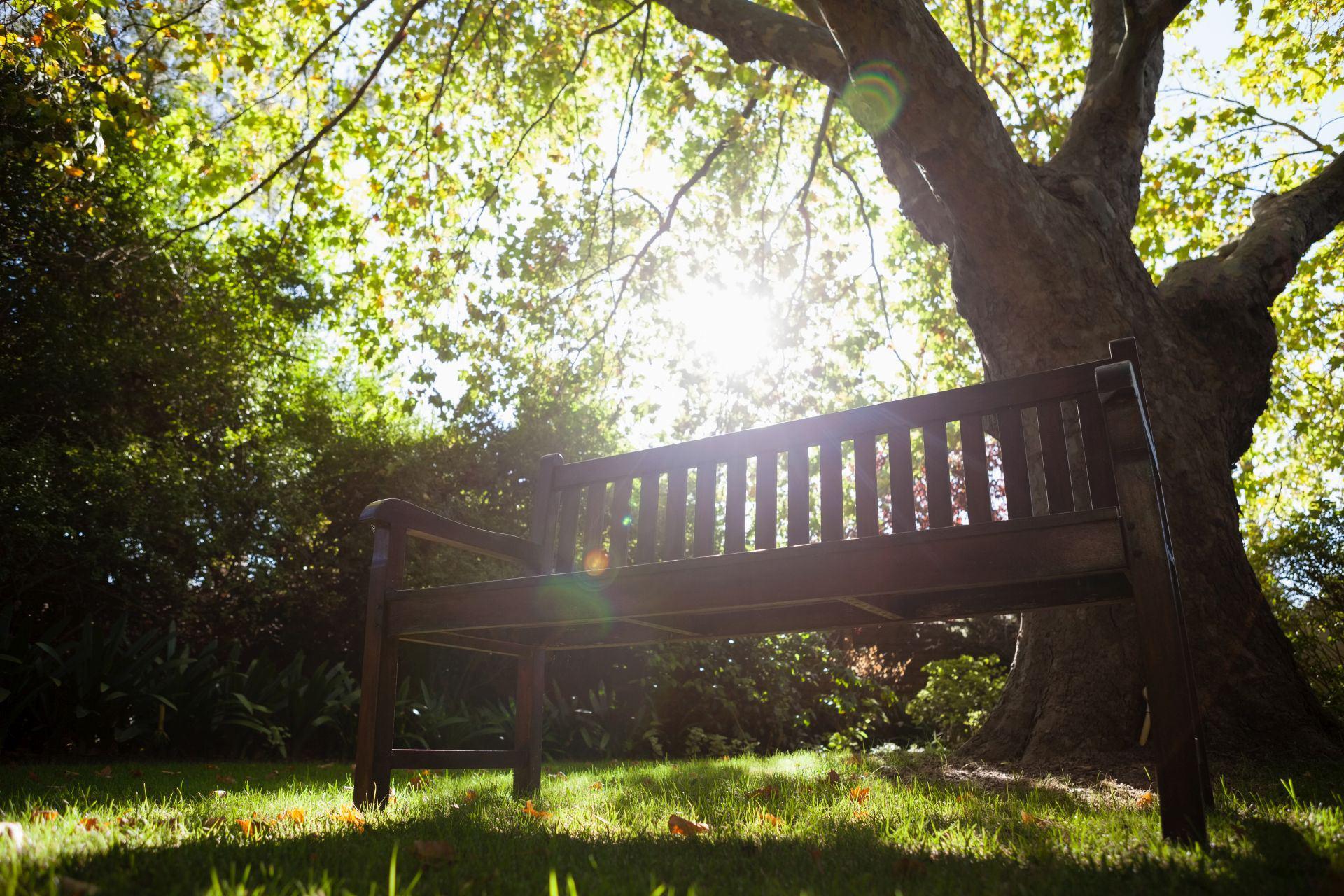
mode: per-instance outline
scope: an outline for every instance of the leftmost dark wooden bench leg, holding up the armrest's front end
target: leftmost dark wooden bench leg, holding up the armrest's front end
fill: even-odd
[[[364,622],[359,733],[355,740],[355,805],[382,806],[392,778],[392,725],[396,709],[396,638],[386,634],[384,595],[402,579],[405,536],[387,527],[374,531]]]

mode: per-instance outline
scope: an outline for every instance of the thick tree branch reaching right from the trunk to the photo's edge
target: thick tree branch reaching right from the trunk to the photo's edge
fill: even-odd
[[[1164,300],[1267,309],[1312,246],[1344,223],[1344,156],[1286,193],[1257,199],[1251,208],[1254,222],[1238,239],[1167,273],[1159,286]]]

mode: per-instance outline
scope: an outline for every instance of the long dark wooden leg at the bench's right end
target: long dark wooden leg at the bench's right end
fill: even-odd
[[[1157,742],[1163,836],[1208,844],[1204,819],[1207,766],[1199,746],[1199,701],[1185,642],[1176,566],[1159,504],[1157,453],[1129,361],[1097,369],[1128,533],[1128,562],[1141,634],[1148,705]]]

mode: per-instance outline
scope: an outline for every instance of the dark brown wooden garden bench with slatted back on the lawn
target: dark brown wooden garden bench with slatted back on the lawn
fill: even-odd
[[[1117,340],[1110,351],[1087,364],[646,451],[577,463],[550,454],[535,482],[531,539],[405,501],[371,504],[362,516],[375,541],[356,801],[384,799],[392,768],[507,768],[516,794],[536,791],[548,650],[1133,600],[1163,834],[1207,842],[1208,778],[1137,348]],[[949,423],[961,451],[949,451]],[[911,434],[926,489],[911,466]],[[879,494],[883,453],[890,494]],[[753,494],[765,500],[750,501],[749,545]],[[890,509],[890,533],[879,505]],[[515,560],[527,575],[405,588],[407,539]],[[394,748],[398,641],[517,657],[513,748]]]

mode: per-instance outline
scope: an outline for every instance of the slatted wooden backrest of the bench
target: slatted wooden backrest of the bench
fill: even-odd
[[[1086,364],[644,451],[575,463],[548,455],[532,516],[539,571],[745,551],[749,510],[762,549],[781,535],[796,545],[1114,506],[1094,371],[1129,360],[1137,372],[1137,352],[1132,339],[1110,349]],[[1044,485],[1035,508],[1034,478]]]

